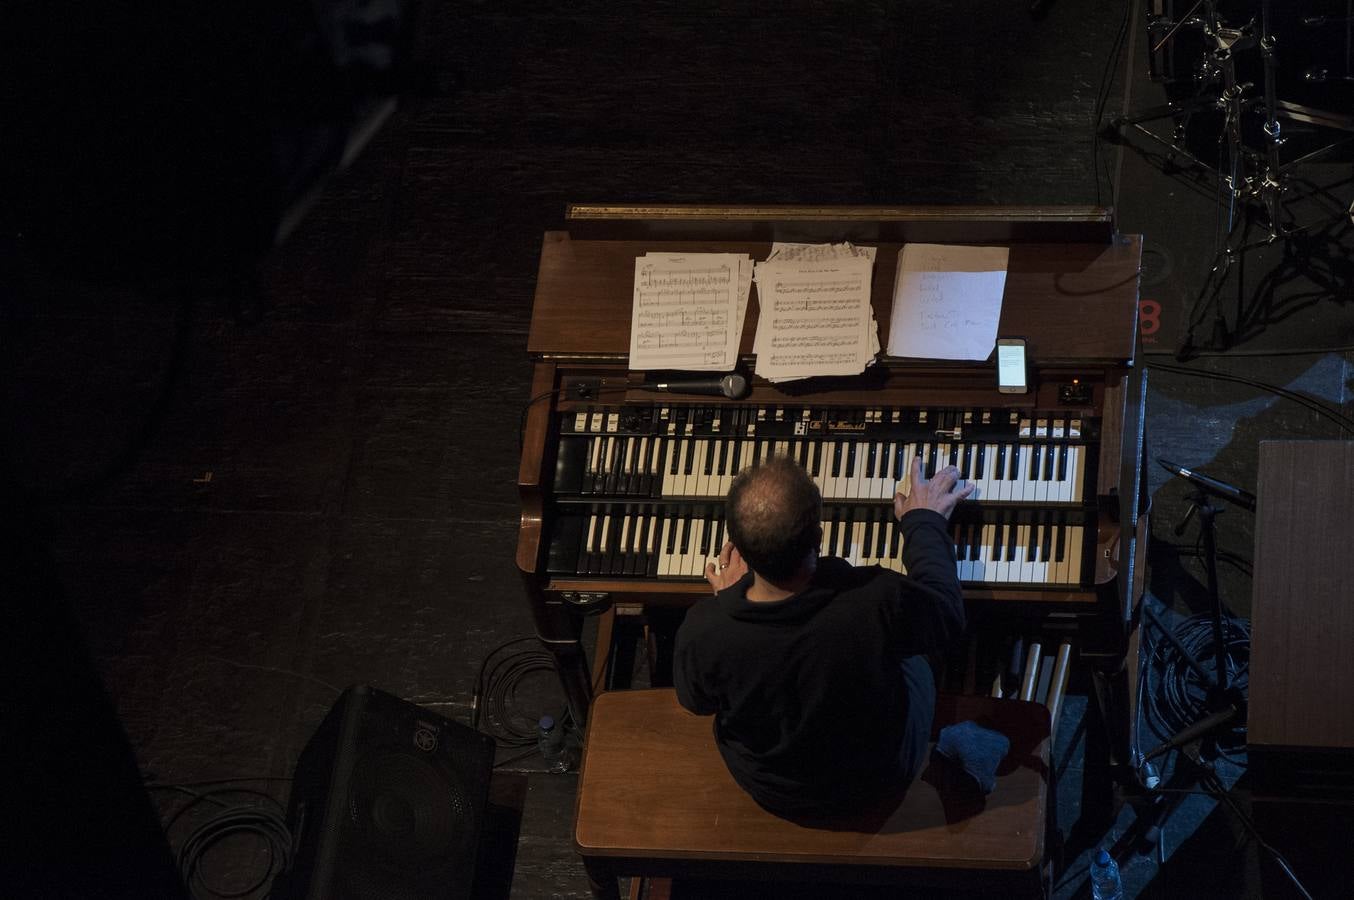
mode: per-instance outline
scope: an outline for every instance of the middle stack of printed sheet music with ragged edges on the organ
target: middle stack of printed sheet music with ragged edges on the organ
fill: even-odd
[[[865,371],[877,348],[872,269],[854,256],[758,265],[757,375],[784,382]]]

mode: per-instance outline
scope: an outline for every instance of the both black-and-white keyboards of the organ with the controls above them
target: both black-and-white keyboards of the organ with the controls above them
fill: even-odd
[[[1089,582],[1094,541],[1086,541],[1085,498],[1098,462],[1097,420],[1001,409],[634,403],[563,413],[558,424],[552,575],[701,578],[705,559],[727,540],[720,501],[734,476],[789,456],[826,502],[825,555],[903,571],[892,498],[919,459],[926,476],[955,466],[975,486],[952,518],[963,582]]]

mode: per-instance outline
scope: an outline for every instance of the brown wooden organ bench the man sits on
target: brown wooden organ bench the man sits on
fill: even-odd
[[[871,809],[791,822],[734,782],[711,719],[682,709],[674,692],[603,693],[588,719],[574,846],[605,900],[619,897],[619,876],[1045,896],[1049,711],[1021,700],[940,696],[936,732],[967,720],[1011,740],[986,797],[956,785],[948,765],[929,761],[906,793]]]

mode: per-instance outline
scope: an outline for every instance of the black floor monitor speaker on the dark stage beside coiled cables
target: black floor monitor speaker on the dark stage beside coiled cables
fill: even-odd
[[[297,761],[276,900],[470,897],[494,742],[353,686]]]

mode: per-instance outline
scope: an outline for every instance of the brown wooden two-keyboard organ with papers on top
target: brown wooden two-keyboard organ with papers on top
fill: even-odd
[[[1026,338],[1030,391],[998,392],[991,363],[891,359],[856,378],[754,379],[741,401],[639,390],[626,364],[634,258],[765,258],[772,240],[879,246],[881,340],[902,242],[1009,246],[999,333]],[[895,487],[914,459],[927,474],[957,466],[976,485],[951,520],[975,624],[1059,623],[1083,632],[1083,655],[1121,665],[1145,526],[1139,253],[1091,208],[571,207],[570,231],[544,238],[536,284],[517,564],[575,715],[592,692],[581,617],[708,595],[728,485],[776,455],[822,491],[825,555],[896,571]],[[754,333],[751,303],[745,360]]]

